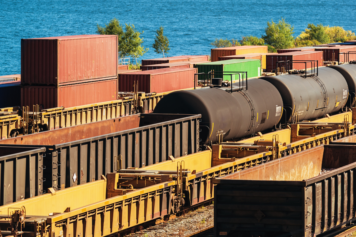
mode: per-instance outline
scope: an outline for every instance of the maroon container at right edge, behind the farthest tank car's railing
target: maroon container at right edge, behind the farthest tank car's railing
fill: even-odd
[[[356,53],[349,54],[349,59],[347,59],[347,55],[345,54],[347,52],[356,52],[356,45],[337,45],[335,47],[323,47],[320,49],[315,49],[315,51],[323,51],[324,61],[347,62],[356,60]],[[339,53],[343,54],[339,55]]]

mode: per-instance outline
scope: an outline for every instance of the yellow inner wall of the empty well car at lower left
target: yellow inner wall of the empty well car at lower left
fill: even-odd
[[[0,214],[7,215],[9,208],[25,206],[26,215],[48,216],[49,213],[62,213],[67,208],[73,210],[105,198],[106,179],[102,179],[0,206]]]

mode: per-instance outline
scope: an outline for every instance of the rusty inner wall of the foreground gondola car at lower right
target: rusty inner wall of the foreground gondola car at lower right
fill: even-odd
[[[323,162],[323,153],[324,145],[316,146],[260,166],[229,174],[221,179],[303,181],[318,176]]]

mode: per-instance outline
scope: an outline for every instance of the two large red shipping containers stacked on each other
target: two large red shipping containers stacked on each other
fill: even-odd
[[[117,99],[117,36],[21,39],[21,106],[71,107]]]

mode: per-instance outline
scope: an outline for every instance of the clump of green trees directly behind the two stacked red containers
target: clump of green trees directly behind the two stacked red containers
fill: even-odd
[[[143,33],[135,29],[134,25],[125,23],[124,27],[120,24],[120,21],[116,18],[112,19],[108,25],[105,24],[105,27],[97,25],[98,34],[111,34],[118,36],[118,50],[119,57],[126,58],[127,56],[132,56],[132,59],[136,60],[147,52],[147,48],[142,47],[143,38],[140,38],[140,35]]]

